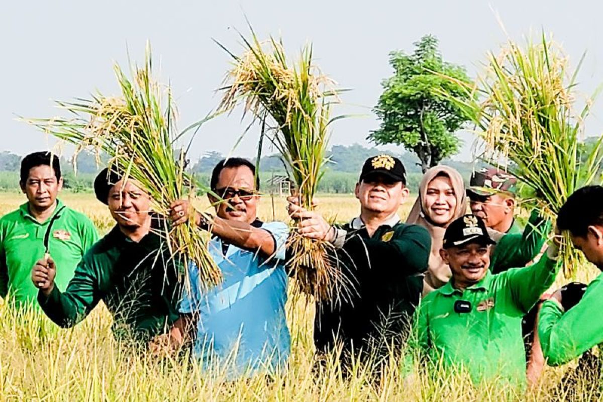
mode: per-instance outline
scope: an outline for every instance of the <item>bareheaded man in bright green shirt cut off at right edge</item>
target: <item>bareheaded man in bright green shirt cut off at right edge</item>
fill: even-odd
[[[603,187],[582,187],[570,195],[559,210],[557,227],[569,231],[574,247],[603,271]],[[540,309],[538,334],[549,365],[567,363],[603,343],[603,274],[571,304],[557,291]]]

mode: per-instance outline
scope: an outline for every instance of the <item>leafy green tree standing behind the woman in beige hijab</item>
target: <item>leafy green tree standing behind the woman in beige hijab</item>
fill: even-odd
[[[459,84],[443,76],[464,82],[469,82],[469,77],[462,66],[442,60],[434,36],[424,36],[414,45],[410,55],[390,53],[394,75],[382,81],[384,92],[374,109],[381,124],[368,139],[377,145],[404,146],[417,154],[425,172],[458,152],[460,140],[455,131],[469,121],[463,111],[438,95],[437,90],[444,89],[464,96]]]

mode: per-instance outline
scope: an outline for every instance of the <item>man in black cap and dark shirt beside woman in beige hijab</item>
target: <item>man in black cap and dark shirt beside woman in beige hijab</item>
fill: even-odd
[[[383,355],[392,342],[403,340],[431,248],[425,228],[400,222],[398,209],[408,193],[402,162],[382,154],[364,163],[355,189],[360,215],[341,228],[289,198],[299,233],[332,242],[349,281],[339,298],[317,306],[314,344],[319,353],[343,344],[346,354],[377,347]]]

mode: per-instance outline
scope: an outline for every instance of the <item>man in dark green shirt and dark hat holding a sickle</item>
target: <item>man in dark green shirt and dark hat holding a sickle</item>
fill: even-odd
[[[181,267],[151,231],[159,224],[150,215],[150,196],[134,181],[104,169],[94,189],[116,226],[86,253],[66,287],[55,282],[62,267],[52,257],[40,259],[31,274],[37,301],[57,325],[71,327],[102,300],[117,336],[148,341],[178,319]]]

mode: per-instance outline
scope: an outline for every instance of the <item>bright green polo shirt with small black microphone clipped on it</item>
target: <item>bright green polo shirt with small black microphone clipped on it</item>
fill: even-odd
[[[525,383],[522,318],[557,275],[547,255],[534,265],[485,277],[465,291],[452,281],[428,294],[415,313],[411,348],[445,368],[466,369],[475,383]],[[471,311],[455,312],[469,301]],[[408,369],[408,358],[406,369]]]

